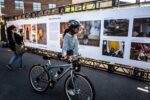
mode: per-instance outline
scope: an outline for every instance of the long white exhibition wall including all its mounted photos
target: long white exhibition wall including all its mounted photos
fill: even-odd
[[[109,9],[9,21],[24,35],[25,45],[61,52],[67,22],[80,21],[83,57],[150,68],[150,7]]]

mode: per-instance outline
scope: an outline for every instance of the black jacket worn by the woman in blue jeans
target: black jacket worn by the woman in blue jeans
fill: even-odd
[[[7,31],[8,34],[8,41],[9,41],[9,47],[12,51],[16,51],[15,50],[15,43],[17,43],[18,45],[23,43],[23,36],[18,35],[16,32],[12,32],[12,31]],[[14,34],[14,38],[13,39],[13,34]]]

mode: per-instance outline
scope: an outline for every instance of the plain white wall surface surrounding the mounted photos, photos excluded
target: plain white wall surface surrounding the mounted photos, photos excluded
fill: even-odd
[[[26,43],[26,45],[31,47],[43,48],[52,51],[60,51],[60,22],[67,22],[70,19],[76,19],[78,21],[91,21],[91,20],[101,20],[101,35],[100,35],[100,47],[94,46],[83,46],[80,45],[80,53],[84,57],[89,57],[98,60],[110,61],[125,65],[130,65],[134,67],[150,68],[149,62],[136,61],[130,59],[130,48],[131,42],[141,42],[150,43],[150,38],[137,38],[132,37],[132,27],[134,18],[144,18],[150,17],[150,7],[141,8],[129,8],[129,9],[109,9],[109,10],[96,10],[96,11],[85,11],[76,12],[63,15],[53,15],[45,16],[33,19],[22,19],[17,21],[8,22],[9,25],[23,25],[23,24],[37,24],[46,23],[47,24],[47,45],[31,44]],[[104,36],[104,20],[105,19],[129,19],[129,31],[128,37],[121,36]],[[116,40],[125,42],[125,52],[124,58],[116,58],[102,55],[102,45],[103,40]]]

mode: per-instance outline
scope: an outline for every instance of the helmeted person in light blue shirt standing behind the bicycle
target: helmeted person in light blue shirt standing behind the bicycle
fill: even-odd
[[[72,55],[79,55],[79,41],[77,38],[77,34],[80,31],[80,22],[76,20],[70,20],[68,22],[69,28],[66,29],[67,32],[64,33],[64,41],[62,46],[62,59],[68,59],[69,56]],[[72,90],[73,85],[70,83],[70,90],[68,91],[69,94],[75,95]]]

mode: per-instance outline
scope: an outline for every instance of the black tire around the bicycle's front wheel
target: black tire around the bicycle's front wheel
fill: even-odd
[[[70,97],[71,95],[69,95],[68,89],[67,89],[67,87],[68,87],[68,82],[69,82],[70,79],[71,79],[71,75],[69,75],[69,76],[66,78],[65,84],[64,84],[64,90],[65,90],[65,94],[66,94],[68,100],[95,100],[95,89],[94,89],[94,86],[93,86],[92,82],[87,78],[87,76],[82,75],[82,74],[80,74],[80,73],[75,73],[75,80],[76,80],[76,81],[77,81],[77,77],[80,77],[81,79],[83,79],[84,81],[87,82],[88,86],[90,87],[91,97],[88,97],[87,99],[79,99],[78,97],[77,97],[77,98],[78,98],[78,99],[77,99],[77,98],[72,98],[72,97]],[[82,91],[82,90],[81,90],[81,91]],[[82,91],[82,92],[83,92],[83,91]],[[76,94],[75,94],[75,95],[76,95]],[[75,95],[74,95],[74,97],[75,97]]]

